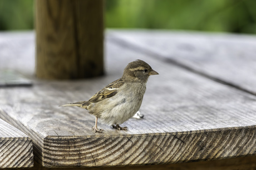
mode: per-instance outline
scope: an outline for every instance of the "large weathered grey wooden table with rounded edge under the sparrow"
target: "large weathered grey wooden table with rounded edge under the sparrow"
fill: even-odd
[[[0,68],[33,82],[0,89],[0,118],[32,139],[39,166],[256,167],[256,37],[107,30],[106,75],[74,81],[36,79],[34,42],[33,32],[0,34]],[[94,133],[86,110],[58,107],[87,100],[135,59],[160,75],[147,83],[144,119],[123,124],[129,131],[99,123],[105,133]]]

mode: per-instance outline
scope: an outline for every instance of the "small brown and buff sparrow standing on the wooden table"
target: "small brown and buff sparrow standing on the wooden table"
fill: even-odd
[[[88,110],[89,114],[95,116],[95,126],[92,127],[95,132],[104,131],[98,129],[98,119],[118,130],[127,130],[127,127],[120,125],[139,111],[146,91],[147,80],[150,75],[157,74],[145,61],[132,61],[126,66],[120,79],[96,92],[88,101],[61,106],[78,106]]]

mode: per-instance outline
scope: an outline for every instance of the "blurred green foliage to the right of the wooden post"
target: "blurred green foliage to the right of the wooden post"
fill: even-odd
[[[107,27],[256,33],[255,0],[106,0]]]

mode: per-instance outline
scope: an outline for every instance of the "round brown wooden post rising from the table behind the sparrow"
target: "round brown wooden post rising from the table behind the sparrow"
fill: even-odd
[[[104,74],[104,0],[36,1],[36,75],[80,79]]]

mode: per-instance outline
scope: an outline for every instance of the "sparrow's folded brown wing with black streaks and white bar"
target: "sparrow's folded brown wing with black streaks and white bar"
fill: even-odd
[[[118,79],[116,81],[113,81],[109,85],[107,85],[104,89],[97,92],[95,95],[91,97],[91,99],[88,100],[89,103],[95,103],[99,102],[101,100],[104,100],[106,98],[115,96],[117,94],[118,89],[124,85],[124,81],[121,79]]]

